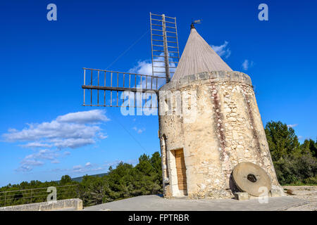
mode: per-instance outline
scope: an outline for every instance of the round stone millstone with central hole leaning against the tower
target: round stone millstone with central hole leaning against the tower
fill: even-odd
[[[240,191],[259,196],[271,190],[271,179],[264,169],[251,162],[240,162],[232,171],[233,181]],[[266,189],[267,188],[267,189]]]

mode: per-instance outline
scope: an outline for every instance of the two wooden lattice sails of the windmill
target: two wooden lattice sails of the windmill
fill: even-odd
[[[159,87],[180,60],[176,18],[150,13],[150,30],[152,74],[83,68],[84,106],[158,108]]]

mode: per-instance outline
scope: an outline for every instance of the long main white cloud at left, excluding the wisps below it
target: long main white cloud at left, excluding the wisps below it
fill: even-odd
[[[97,112],[98,111],[98,112]],[[18,131],[9,129],[3,134],[5,141],[31,141],[23,147],[78,148],[95,143],[95,139],[105,139],[96,122],[108,121],[103,110],[90,110],[80,113],[68,113],[51,122],[27,124]]]

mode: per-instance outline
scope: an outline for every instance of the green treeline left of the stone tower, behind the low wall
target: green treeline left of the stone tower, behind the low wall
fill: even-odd
[[[116,169],[109,167],[108,173],[104,176],[86,175],[82,177],[81,182],[73,181],[70,176],[65,175],[61,177],[61,181],[30,181],[30,183],[23,181],[20,184],[8,184],[0,188],[0,206],[44,202],[48,195],[45,189],[32,192],[18,190],[49,186],[57,187],[57,200],[80,198],[85,206],[137,195],[161,194],[161,157],[159,152],[154,153],[151,158],[144,154],[139,157],[139,163],[135,167],[120,162]],[[4,191],[18,192],[1,193]]]

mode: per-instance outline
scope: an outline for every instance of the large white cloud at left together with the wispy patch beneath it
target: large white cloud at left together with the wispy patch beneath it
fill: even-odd
[[[89,110],[77,113],[61,115],[51,122],[39,124],[27,124],[22,130],[8,129],[8,133],[3,134],[4,141],[26,142],[23,148],[46,148],[37,150],[37,153],[27,155],[21,162],[18,171],[30,171],[35,166],[44,165],[40,160],[49,160],[51,163],[58,163],[58,157],[63,155],[58,150],[63,148],[80,148],[96,143],[97,140],[106,139],[100,127],[100,122],[108,121],[104,110]],[[47,149],[54,148],[55,149]]]

